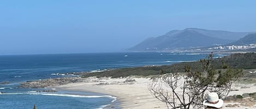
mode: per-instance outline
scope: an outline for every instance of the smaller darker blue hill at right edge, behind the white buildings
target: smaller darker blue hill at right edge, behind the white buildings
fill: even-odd
[[[242,37],[240,40],[230,43],[228,45],[248,45],[256,44],[256,33],[248,34],[245,37]]]

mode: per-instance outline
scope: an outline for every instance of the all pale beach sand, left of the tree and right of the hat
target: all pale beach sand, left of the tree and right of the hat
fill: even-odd
[[[92,78],[93,79],[93,78]],[[81,91],[81,92],[96,92],[103,93],[107,95],[112,95],[117,97],[118,101],[121,101],[121,104],[118,107],[121,108],[159,108],[164,109],[166,105],[163,102],[160,102],[158,99],[154,98],[150,91],[148,91],[148,80],[149,78],[132,78],[135,79],[135,84],[123,84],[123,81],[126,79],[100,79],[96,82],[80,82],[68,85],[57,86],[55,88],[64,89],[69,91]],[[108,85],[105,85],[108,82]],[[102,85],[97,85],[104,83]],[[243,86],[243,85],[240,85]],[[253,93],[256,92],[256,86],[249,85],[249,88],[242,88],[237,85],[236,88],[239,91],[230,92],[229,95],[234,94],[243,94],[243,93]],[[238,104],[235,107],[225,107],[227,105]],[[252,106],[243,106],[241,102],[224,102],[223,108],[255,108],[256,105]]]

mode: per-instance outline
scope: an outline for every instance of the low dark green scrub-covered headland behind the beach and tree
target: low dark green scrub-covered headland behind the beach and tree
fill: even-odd
[[[225,65],[230,66],[234,69],[255,69],[256,68],[256,53],[245,53],[245,54],[231,54],[229,56],[224,56],[213,60],[213,67],[216,69],[222,69],[222,62]],[[130,75],[157,75],[163,70],[165,73],[171,72],[184,72],[184,66],[196,67],[200,66],[199,61],[195,62],[181,62],[175,63],[173,65],[164,66],[146,66],[146,67],[134,67],[134,68],[120,68],[114,69],[107,72],[101,73],[86,73],[82,77],[87,78],[90,76],[104,77],[111,76],[112,78],[126,77]],[[175,68],[175,70],[174,70]]]

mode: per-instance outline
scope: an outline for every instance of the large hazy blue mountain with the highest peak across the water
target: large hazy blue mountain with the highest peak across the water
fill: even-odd
[[[173,49],[188,49],[210,47],[233,43],[253,32],[230,32],[222,30],[206,30],[186,28],[171,30],[168,33],[151,37],[130,48],[133,51],[163,51]]]

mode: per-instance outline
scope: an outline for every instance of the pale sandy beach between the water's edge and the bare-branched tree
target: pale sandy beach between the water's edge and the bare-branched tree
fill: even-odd
[[[97,85],[103,81],[80,82],[56,86],[53,88],[67,91],[101,93],[117,97],[117,100],[113,104],[106,106],[105,108],[166,108],[166,105],[163,102],[160,102],[158,99],[154,98],[148,91],[148,78],[133,79],[136,81],[135,84]],[[126,79],[106,79],[104,82],[122,82],[125,80]]]

